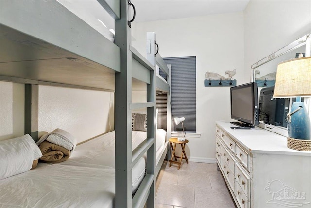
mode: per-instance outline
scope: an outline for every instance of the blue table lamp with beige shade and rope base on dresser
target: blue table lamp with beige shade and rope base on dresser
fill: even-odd
[[[295,58],[277,66],[274,98],[297,97],[287,114],[287,147],[311,151],[310,118],[301,96],[311,96],[311,57]]]

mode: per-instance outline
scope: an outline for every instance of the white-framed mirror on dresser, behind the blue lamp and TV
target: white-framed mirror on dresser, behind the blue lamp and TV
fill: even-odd
[[[267,57],[262,58],[261,60],[253,64],[252,69],[251,69],[252,70],[251,81],[254,81],[257,83],[259,95],[260,95],[260,91],[262,88],[267,88],[268,90],[269,89],[268,87],[274,86],[275,79],[276,79],[277,65],[280,62],[293,59],[293,58],[297,58],[299,54],[303,54],[304,57],[305,56],[308,57],[310,56],[310,53],[311,53],[311,33],[301,38],[298,38],[294,42],[286,45],[285,47],[277,50],[276,52],[270,54]],[[308,100],[309,99],[305,99],[306,104],[307,102],[309,102]],[[288,102],[287,105],[289,106],[289,108],[287,109],[286,112],[284,111],[285,114],[289,112],[291,103],[292,103],[292,100]],[[260,105],[260,101],[259,101],[259,105]],[[309,114],[311,114],[311,112]],[[284,136],[287,136],[287,128],[282,127],[282,125],[275,126],[275,125],[264,124],[264,122],[266,123],[266,121],[262,119],[260,120],[260,118],[262,117],[259,116],[259,122],[260,122],[259,127],[279,133]],[[286,125],[283,125],[283,126],[286,127]]]

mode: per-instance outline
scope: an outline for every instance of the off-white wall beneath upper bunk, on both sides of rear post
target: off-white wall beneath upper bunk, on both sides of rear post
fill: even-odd
[[[39,136],[60,128],[82,142],[114,130],[113,109],[114,93],[40,85]],[[0,82],[0,140],[21,135],[24,85]]]

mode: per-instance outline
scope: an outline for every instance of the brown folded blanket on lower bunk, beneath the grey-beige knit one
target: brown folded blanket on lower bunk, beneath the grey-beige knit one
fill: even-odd
[[[59,145],[52,144],[44,141],[39,145],[39,148],[43,154],[40,161],[46,163],[60,163],[67,160],[70,157],[70,151]]]

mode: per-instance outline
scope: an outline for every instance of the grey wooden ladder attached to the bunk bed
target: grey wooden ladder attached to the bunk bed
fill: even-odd
[[[153,208],[155,199],[155,70],[147,59],[130,46],[132,36],[128,25],[129,10],[132,10],[130,0],[120,0],[120,19],[115,20],[115,44],[121,49],[121,72],[115,74],[115,207],[143,208],[146,203],[147,208]],[[150,74],[146,103],[132,103],[132,66],[133,64],[138,66],[138,63],[149,70]],[[147,108],[147,139],[132,151],[131,111],[139,108]],[[132,168],[146,152],[146,175],[132,197]]]

